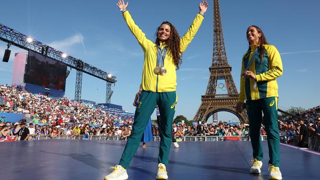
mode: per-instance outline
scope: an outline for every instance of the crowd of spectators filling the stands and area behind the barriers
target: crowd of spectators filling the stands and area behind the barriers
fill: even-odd
[[[30,137],[38,134],[56,138],[59,135],[76,136],[82,134],[122,136],[126,139],[131,133],[132,119],[123,119],[106,113],[92,104],[71,101],[70,98],[52,98],[42,94],[22,91],[19,87],[0,86],[0,97],[5,104],[0,112],[24,113],[25,118],[11,123],[4,116],[0,118],[0,138],[14,140],[19,129],[26,126]],[[300,127],[305,124],[309,136],[320,136],[320,106],[308,109],[297,117],[278,120],[279,135],[293,137],[300,134]],[[245,123],[195,123],[186,125],[183,121],[173,123],[173,135],[184,139],[186,136],[248,136],[250,126]],[[159,136],[157,125],[152,125],[152,133]],[[266,135],[261,124],[261,135]],[[28,138],[27,138],[28,139]],[[293,138],[289,138],[293,139]]]

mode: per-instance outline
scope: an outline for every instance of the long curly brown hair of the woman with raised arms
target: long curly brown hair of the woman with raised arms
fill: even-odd
[[[176,28],[169,22],[163,21],[161,25],[166,24],[170,26],[170,36],[169,38],[165,41],[165,43],[168,45],[168,55],[173,58],[173,62],[176,65],[177,70],[179,70],[179,66],[182,63],[181,60],[181,51],[180,51],[180,36],[178,34],[178,31]],[[161,27],[161,25],[157,28],[157,39],[156,39],[156,44],[157,46],[160,45],[160,39],[158,38],[158,31]]]

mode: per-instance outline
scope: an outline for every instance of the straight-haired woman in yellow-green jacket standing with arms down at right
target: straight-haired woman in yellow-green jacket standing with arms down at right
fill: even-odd
[[[280,172],[280,137],[278,131],[278,84],[276,78],[283,74],[280,54],[275,46],[269,45],[264,33],[257,26],[246,32],[248,51],[242,59],[239,102],[236,110],[242,112],[246,100],[250,122],[250,139],[253,159],[250,172],[260,173],[263,149],[260,128],[266,127],[269,149],[269,179],[282,180]]]

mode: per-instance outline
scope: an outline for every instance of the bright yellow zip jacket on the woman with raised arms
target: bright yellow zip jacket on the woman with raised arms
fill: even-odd
[[[123,13],[123,17],[144,52],[142,90],[153,92],[175,91],[177,86],[176,66],[173,62],[172,56],[170,56],[170,53],[168,55],[167,52],[164,59],[164,67],[167,69],[166,75],[156,75],[153,70],[157,66],[157,45],[146,38],[145,33],[143,33],[142,30],[140,30],[140,28],[134,23],[128,11]],[[187,46],[192,41],[195,33],[202,23],[203,18],[203,15],[197,14],[187,33],[180,39],[181,53],[186,50]],[[162,49],[165,46],[162,46],[162,43],[160,43],[160,47]]]

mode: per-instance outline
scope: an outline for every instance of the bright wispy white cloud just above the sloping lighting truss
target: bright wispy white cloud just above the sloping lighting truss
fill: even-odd
[[[82,36],[82,34],[81,33],[77,33],[77,34],[74,34],[71,37],[68,37],[68,38],[64,39],[64,40],[53,41],[53,42],[49,43],[48,45],[53,47],[53,48],[55,48],[55,49],[57,49],[57,50],[60,50],[60,51],[68,51],[71,46],[81,43],[82,46],[83,46],[83,49],[84,49],[84,51],[86,53],[86,49],[85,49],[85,46],[84,46],[84,43],[83,43],[83,39],[84,39],[84,37]]]

